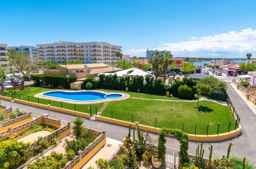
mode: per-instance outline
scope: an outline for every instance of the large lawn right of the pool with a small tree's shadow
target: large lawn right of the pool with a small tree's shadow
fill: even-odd
[[[108,92],[117,92],[110,91]],[[132,97],[166,99],[166,96],[155,96],[141,93],[124,92]],[[156,101],[141,99],[125,99],[109,102],[108,107],[102,112],[101,116],[124,120],[139,121],[140,124],[153,126],[156,128],[176,128],[184,130],[186,133],[217,134],[228,132],[229,122],[230,131],[234,129],[234,118],[226,105],[221,105],[212,101],[197,102],[174,102]],[[113,112],[113,113],[112,113]],[[184,123],[184,126],[183,126]]]

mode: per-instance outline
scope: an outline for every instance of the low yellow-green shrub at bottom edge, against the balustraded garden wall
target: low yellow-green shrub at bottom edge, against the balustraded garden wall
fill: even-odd
[[[32,164],[28,164],[28,169],[34,168],[63,168],[66,163],[67,159],[64,158],[63,154],[59,154],[56,152],[52,152],[49,156],[43,156],[42,158],[36,159],[35,162]]]

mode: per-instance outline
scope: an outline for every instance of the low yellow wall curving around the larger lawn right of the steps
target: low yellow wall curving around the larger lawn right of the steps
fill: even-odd
[[[127,121],[116,120],[116,119],[111,119],[111,118],[107,118],[107,117],[100,117],[100,116],[96,116],[95,119],[100,120],[100,121],[106,121],[106,122],[114,123],[114,124],[124,125],[124,126],[131,125],[132,128],[136,128],[136,125],[134,123],[130,123],[130,122],[127,122]],[[141,130],[154,132],[154,133],[159,133],[159,131],[160,131],[159,128],[153,128],[151,126],[142,125],[142,124],[139,124],[139,128]],[[224,140],[224,139],[228,139],[228,138],[232,138],[234,136],[240,135],[242,133],[241,129],[242,129],[242,127],[239,124],[239,129],[231,131],[231,132],[227,132],[227,133],[223,133],[223,134],[219,134],[219,135],[192,135],[192,134],[188,134],[188,138],[189,138],[189,140],[194,140],[194,141],[196,141],[196,140],[197,141]],[[170,136],[172,136],[172,135],[170,135]]]

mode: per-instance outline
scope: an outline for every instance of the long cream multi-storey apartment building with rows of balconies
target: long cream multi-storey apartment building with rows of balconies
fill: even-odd
[[[36,45],[38,57],[44,61],[64,64],[65,61],[80,60],[83,64],[103,63],[115,64],[115,53],[122,52],[121,46],[106,42],[74,43],[72,41],[57,41],[53,44]]]

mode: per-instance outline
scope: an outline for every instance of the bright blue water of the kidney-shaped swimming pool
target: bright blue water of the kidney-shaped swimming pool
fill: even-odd
[[[104,94],[100,92],[63,92],[63,91],[53,91],[46,92],[44,96],[57,97],[62,99],[76,100],[76,101],[91,101],[91,100],[102,100],[107,98],[119,98],[122,94]]]

